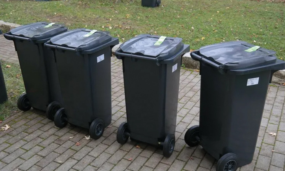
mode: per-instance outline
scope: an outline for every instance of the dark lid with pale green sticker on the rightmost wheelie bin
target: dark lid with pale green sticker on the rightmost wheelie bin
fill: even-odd
[[[250,68],[276,62],[275,51],[260,48],[244,41],[203,46],[199,53],[208,60],[223,65],[225,69]]]

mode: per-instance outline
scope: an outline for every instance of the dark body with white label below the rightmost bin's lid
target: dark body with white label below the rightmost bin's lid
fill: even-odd
[[[220,74],[201,62],[200,144],[219,159],[233,152],[241,166],[255,152],[270,71],[247,75]],[[248,85],[248,79],[259,78]]]

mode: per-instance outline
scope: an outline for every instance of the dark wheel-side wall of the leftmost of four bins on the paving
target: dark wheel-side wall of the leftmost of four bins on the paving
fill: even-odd
[[[43,44],[14,40],[26,93],[33,108],[46,110],[49,99]]]

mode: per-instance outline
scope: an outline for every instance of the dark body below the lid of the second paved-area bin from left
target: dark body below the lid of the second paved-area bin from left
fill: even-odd
[[[55,51],[60,88],[68,122],[89,128],[95,118],[111,123],[111,50],[76,55]],[[104,54],[104,60],[97,57]],[[101,58],[102,59],[102,58]]]

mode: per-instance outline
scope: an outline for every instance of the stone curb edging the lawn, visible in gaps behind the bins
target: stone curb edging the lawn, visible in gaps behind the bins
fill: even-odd
[[[7,23],[2,20],[0,20],[0,29],[4,32],[7,32],[11,30],[12,28],[19,27],[21,25],[14,24],[14,23]],[[112,49],[112,54],[115,55],[115,51],[119,48],[119,46],[122,43],[120,42]],[[185,68],[192,68],[192,69],[200,69],[200,62],[195,61],[191,58],[190,52],[184,54],[182,57],[182,65],[184,65]],[[285,70],[277,71],[273,74],[272,77],[272,83],[275,84],[284,84],[285,83]]]

